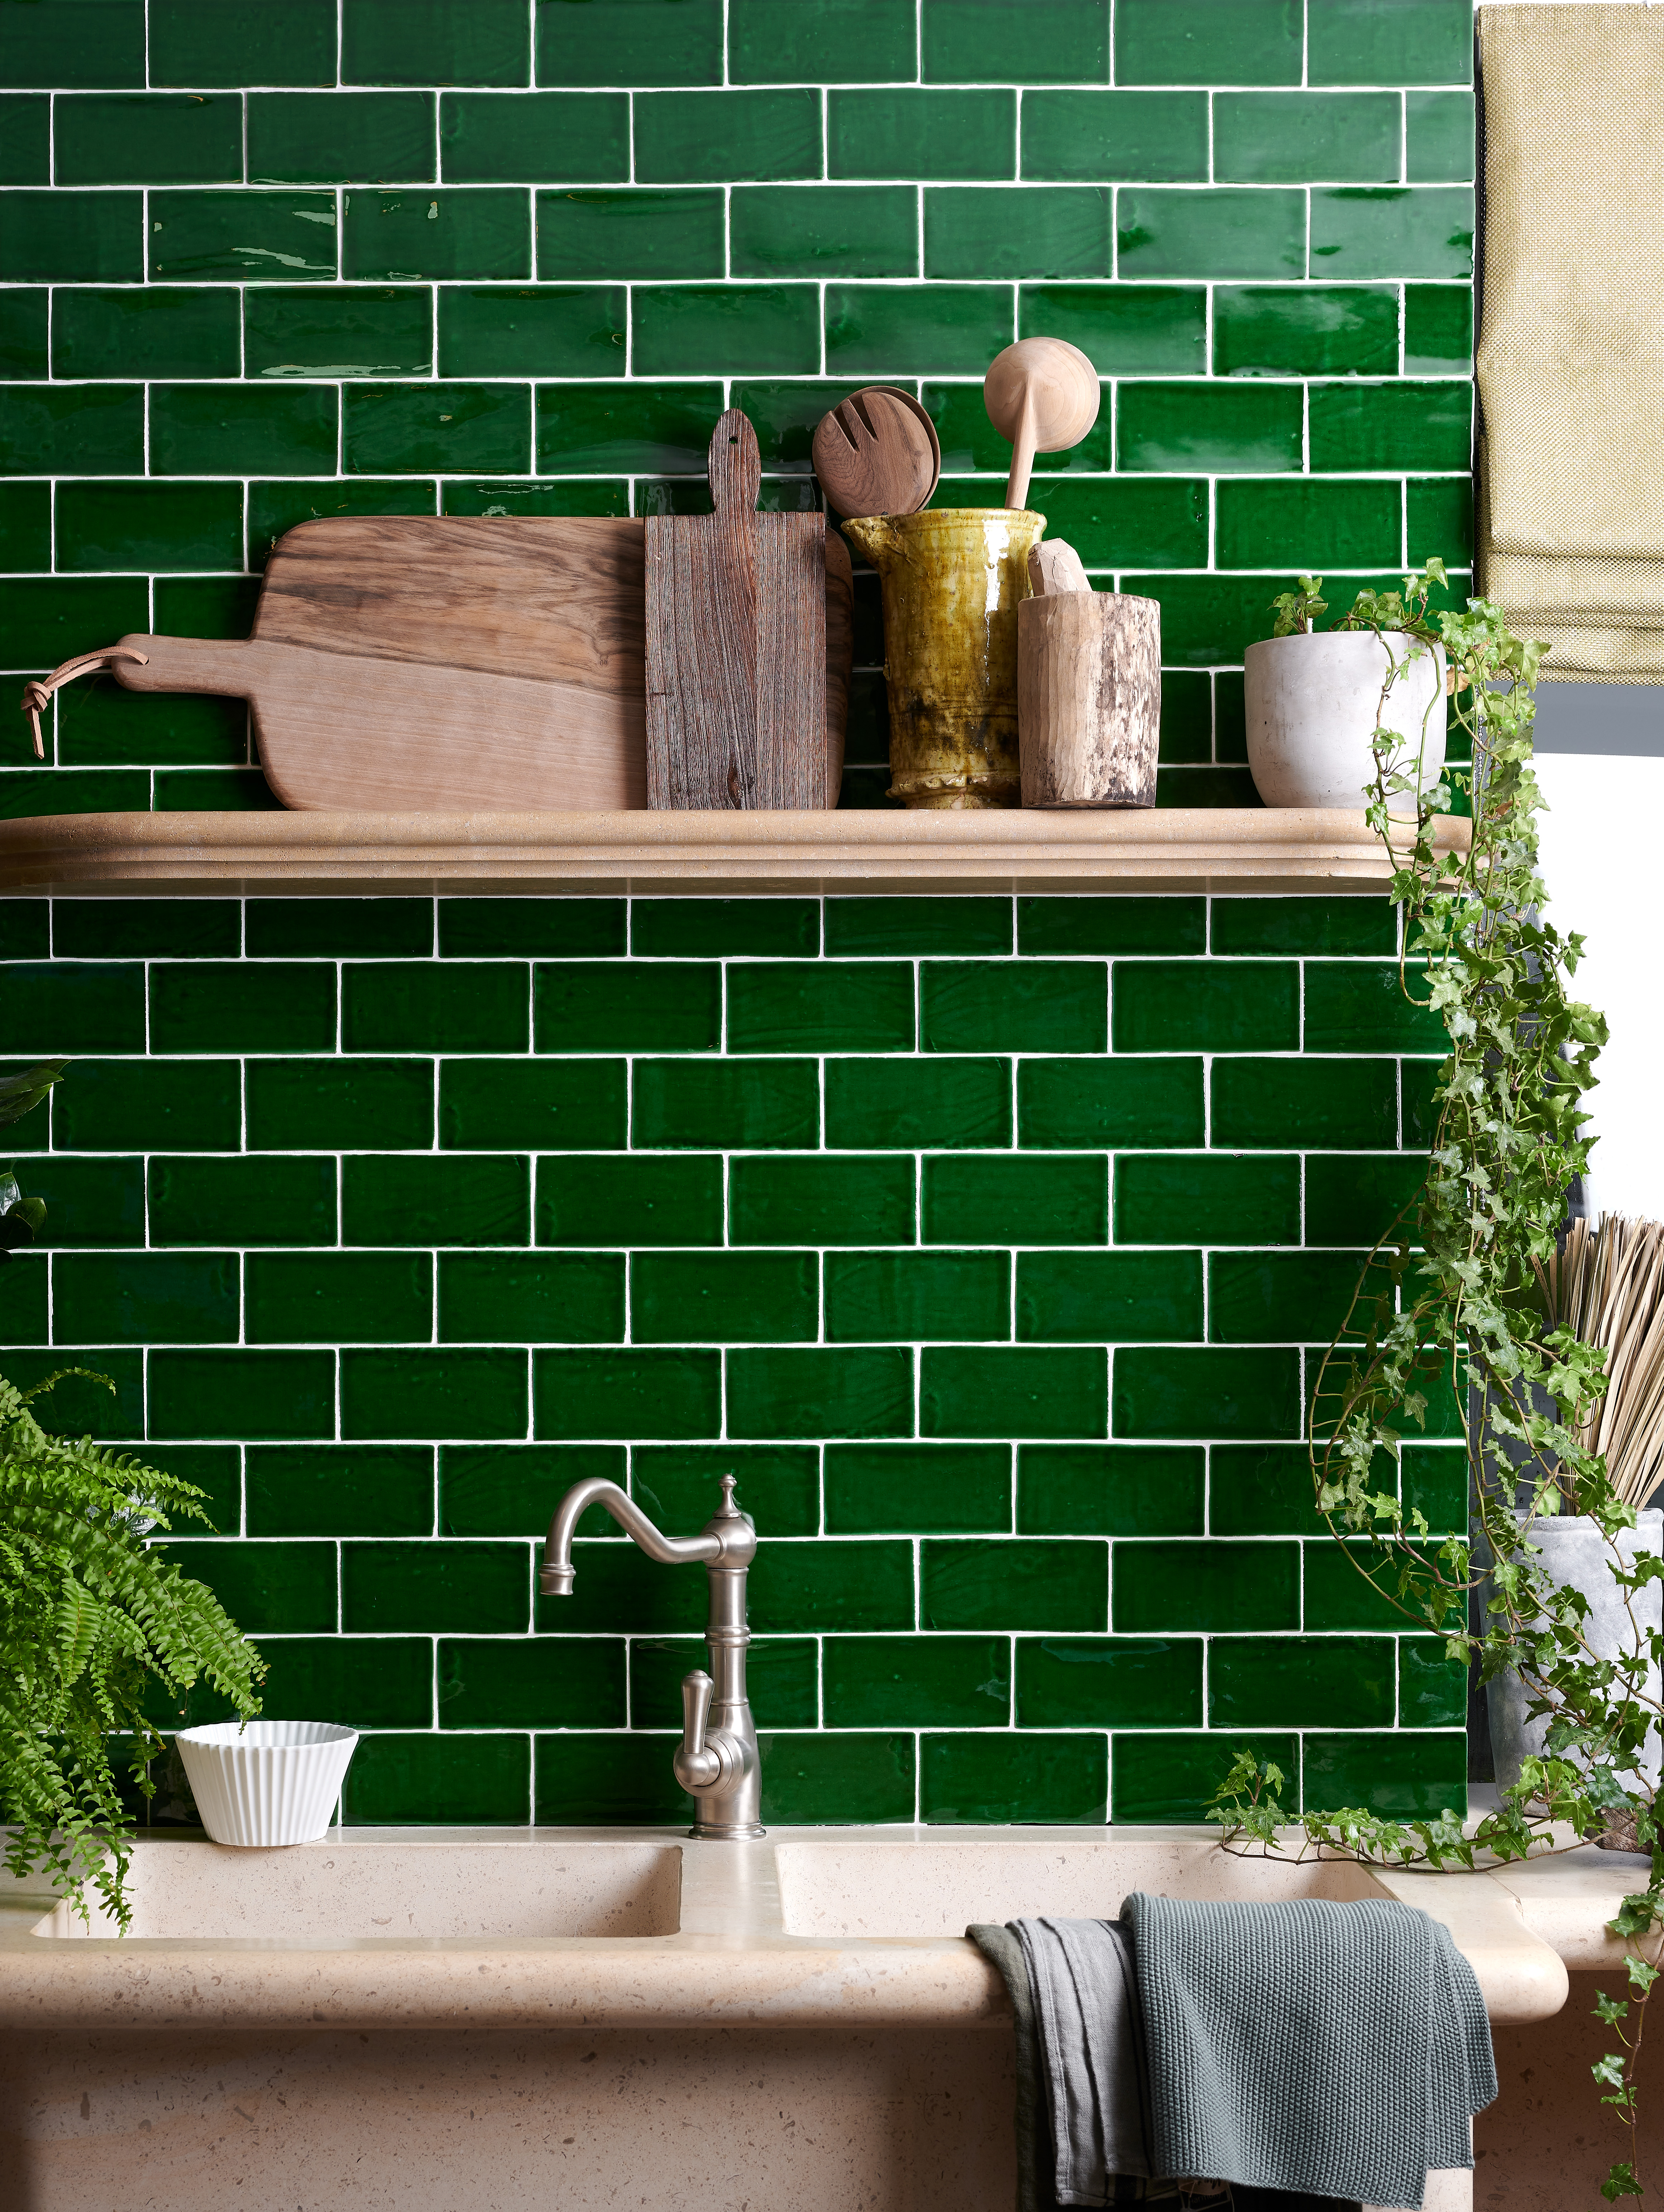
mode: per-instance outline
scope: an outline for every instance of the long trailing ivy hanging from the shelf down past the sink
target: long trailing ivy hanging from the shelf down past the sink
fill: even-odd
[[[1277,635],[1310,630],[1325,613],[1321,582],[1301,577],[1275,602]],[[1471,1829],[1454,1812],[1398,1823],[1356,1807],[1294,1825],[1301,1849],[1401,1867],[1564,1849],[1567,1829],[1573,1843],[1633,1834],[1651,1854],[1646,1885],[1611,1922],[1629,1944],[1629,1997],[1602,1993],[1598,2004],[1622,2046],[1595,2066],[1602,2101],[1629,2132],[1629,2157],[1602,2183],[1618,2201],[1642,2192],[1635,2064],[1664,1951],[1664,1838],[1644,1765],[1664,1714],[1649,1679],[1664,1637],[1637,1619],[1642,1593],[1664,1582],[1664,1559],[1620,1551],[1635,1509],[1578,1440],[1606,1387],[1606,1356],[1551,1321],[1542,1285],[1567,1190],[1587,1172],[1582,1099],[1606,1024],[1571,995],[1582,940],[1542,911],[1531,717],[1545,648],[1514,637],[1489,599],[1434,615],[1443,584],[1443,562],[1432,560],[1403,591],[1359,593],[1339,624],[1374,630],[1385,646],[1367,821],[1403,909],[1401,991],[1443,1020],[1449,1055],[1434,1084],[1425,1183],[1365,1261],[1319,1365],[1308,1442],[1317,1506],[1356,1573],[1405,1626],[1438,1630],[1452,1663],[1476,1661],[1480,1681],[1518,1672],[1531,1719],[1549,1725],[1545,1754],[1522,1763],[1520,1781]],[[1425,741],[1385,728],[1394,684],[1436,648],[1471,748],[1471,761],[1445,774],[1429,772]],[[1471,818],[1465,852],[1438,821],[1458,799]],[[1405,1493],[1403,1438],[1425,1431],[1434,1407],[1467,1436],[1478,1544],[1467,1528],[1436,1531]],[[1606,1540],[1633,1628],[1618,1659],[1589,1644],[1587,1599],[1551,1582],[1529,1540],[1536,1515],[1560,1511],[1589,1515]],[[1237,1759],[1210,1814],[1228,1847],[1279,1847],[1290,1820],[1281,1785],[1277,1767],[1248,1752]]]

